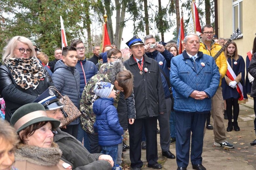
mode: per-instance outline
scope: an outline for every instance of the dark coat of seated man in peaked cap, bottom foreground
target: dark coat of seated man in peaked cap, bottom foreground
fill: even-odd
[[[59,128],[54,134],[53,140],[62,151],[61,159],[72,164],[75,170],[111,170],[108,161],[98,160],[100,153],[90,154],[88,150],[76,138],[61,131]]]

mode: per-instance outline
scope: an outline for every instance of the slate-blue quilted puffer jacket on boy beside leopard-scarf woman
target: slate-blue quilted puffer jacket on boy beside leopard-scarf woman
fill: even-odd
[[[55,87],[64,96],[67,95],[74,105],[79,109],[80,100],[80,75],[75,67],[66,66],[60,59],[56,62],[54,73],[51,76]],[[77,118],[69,125],[78,125],[80,118]]]

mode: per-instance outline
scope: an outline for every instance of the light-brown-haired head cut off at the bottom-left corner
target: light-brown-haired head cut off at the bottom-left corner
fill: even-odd
[[[14,150],[18,143],[15,129],[6,121],[0,120],[0,169],[16,170],[14,163]]]

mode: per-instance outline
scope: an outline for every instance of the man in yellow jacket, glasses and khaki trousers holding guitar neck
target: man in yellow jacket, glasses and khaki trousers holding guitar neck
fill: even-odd
[[[204,25],[201,29],[201,37],[199,51],[214,57],[221,49],[221,46],[214,42],[214,29],[211,25]],[[216,59],[216,65],[219,67],[220,78],[226,75],[227,62],[224,53]],[[234,145],[226,141],[226,132],[224,126],[224,101],[222,96],[221,79],[217,92],[212,97],[211,116],[213,118],[214,145],[233,148]]]

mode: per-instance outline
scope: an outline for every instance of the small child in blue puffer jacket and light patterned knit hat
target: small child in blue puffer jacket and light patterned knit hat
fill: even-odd
[[[114,107],[116,91],[114,85],[108,82],[97,82],[94,93],[101,98],[93,103],[93,112],[96,114],[94,131],[98,132],[101,153],[110,155],[114,161],[112,170],[116,169],[118,144],[122,143],[124,133],[118,119],[117,110]]]

